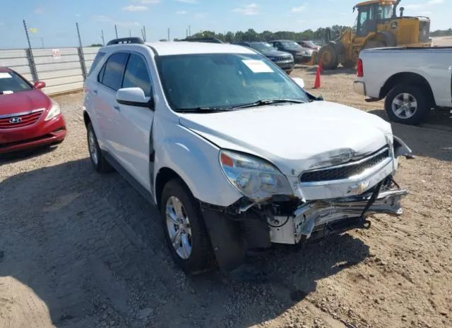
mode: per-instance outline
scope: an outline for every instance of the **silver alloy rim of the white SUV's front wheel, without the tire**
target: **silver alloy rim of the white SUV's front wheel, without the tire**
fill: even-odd
[[[177,255],[187,260],[191,255],[191,226],[188,214],[179,198],[171,196],[166,206],[167,229]]]

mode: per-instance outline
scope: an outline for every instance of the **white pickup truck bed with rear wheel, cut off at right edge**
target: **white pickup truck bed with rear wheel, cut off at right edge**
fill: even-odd
[[[359,55],[355,92],[386,97],[392,121],[417,125],[431,109],[452,107],[452,47],[367,49]]]

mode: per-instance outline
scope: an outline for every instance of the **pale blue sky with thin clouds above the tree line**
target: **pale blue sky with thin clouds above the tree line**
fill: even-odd
[[[119,37],[141,36],[148,41],[181,39],[186,31],[248,30],[303,31],[331,25],[353,25],[357,0],[0,0],[0,49],[27,47],[23,19],[32,47],[78,45],[76,22],[83,45]],[[407,16],[429,16],[432,30],[452,27],[452,0],[403,0]]]

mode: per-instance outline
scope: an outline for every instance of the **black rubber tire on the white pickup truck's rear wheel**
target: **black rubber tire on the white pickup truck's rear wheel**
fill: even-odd
[[[401,112],[399,111],[400,107],[395,102],[397,101],[397,99],[400,99],[400,97],[403,97],[401,95],[404,94],[410,95],[410,97],[408,98],[409,104],[412,104],[413,100],[417,103],[417,108],[415,110],[410,107],[406,110],[402,109]],[[403,105],[402,107],[406,108]],[[396,87],[393,87],[393,89],[388,92],[385,100],[385,109],[391,121],[412,126],[416,126],[422,123],[426,119],[427,114],[429,114],[430,111],[429,107],[427,106],[427,99],[425,98],[424,93],[422,92],[420,87],[403,84],[396,85]]]

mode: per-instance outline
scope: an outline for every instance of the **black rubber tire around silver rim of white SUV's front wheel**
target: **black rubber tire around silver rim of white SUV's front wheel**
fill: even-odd
[[[169,201],[169,198],[177,198],[182,203],[186,217],[189,219],[191,253],[189,257],[185,259],[177,253],[176,248],[172,244],[171,237],[169,236],[167,224],[167,202]],[[163,188],[162,199],[160,202],[160,214],[162,217],[165,239],[174,262],[176,262],[186,274],[198,274],[213,269],[215,267],[215,254],[213,253],[213,248],[210,244],[210,238],[201,214],[201,209],[189,188],[186,187],[185,183],[179,178],[169,181]],[[182,245],[182,241],[180,245]]]

